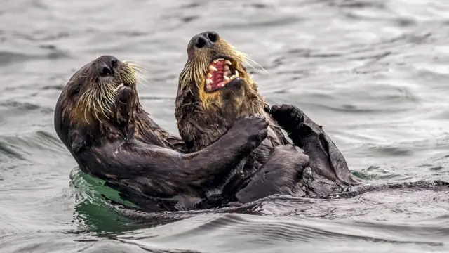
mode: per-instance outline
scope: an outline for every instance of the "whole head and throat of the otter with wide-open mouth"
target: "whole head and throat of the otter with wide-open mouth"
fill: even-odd
[[[199,110],[209,110],[229,120],[263,112],[263,98],[243,66],[248,60],[245,53],[237,51],[216,32],[202,32],[189,41],[187,56],[179,79],[177,109],[186,103],[189,93]]]

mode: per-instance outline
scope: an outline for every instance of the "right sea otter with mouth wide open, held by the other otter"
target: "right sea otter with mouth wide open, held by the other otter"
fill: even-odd
[[[206,148],[239,117],[260,114],[269,120],[267,138],[227,183],[224,194],[249,202],[272,194],[328,195],[357,183],[321,126],[293,105],[269,108],[243,67],[247,59],[217,32],[202,32],[189,41],[179,77],[175,117],[190,152]],[[299,148],[290,145],[281,127]]]

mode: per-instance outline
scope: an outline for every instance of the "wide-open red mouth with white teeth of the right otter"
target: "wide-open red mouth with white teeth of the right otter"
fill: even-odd
[[[239,72],[235,70],[231,60],[217,58],[213,60],[206,74],[205,89],[206,92],[213,92],[225,87],[234,78],[239,77]]]

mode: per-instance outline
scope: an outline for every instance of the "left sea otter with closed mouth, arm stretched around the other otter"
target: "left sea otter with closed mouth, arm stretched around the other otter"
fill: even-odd
[[[183,141],[140,105],[133,66],[101,56],[81,67],[60,94],[55,131],[80,169],[123,199],[147,211],[200,208],[266,138],[267,119],[240,117],[206,148],[183,153]]]

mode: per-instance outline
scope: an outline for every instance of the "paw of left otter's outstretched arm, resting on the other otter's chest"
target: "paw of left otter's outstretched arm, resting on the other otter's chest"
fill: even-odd
[[[257,148],[267,138],[268,119],[262,115],[243,116],[237,119],[232,130],[248,140],[247,147],[250,150]]]

